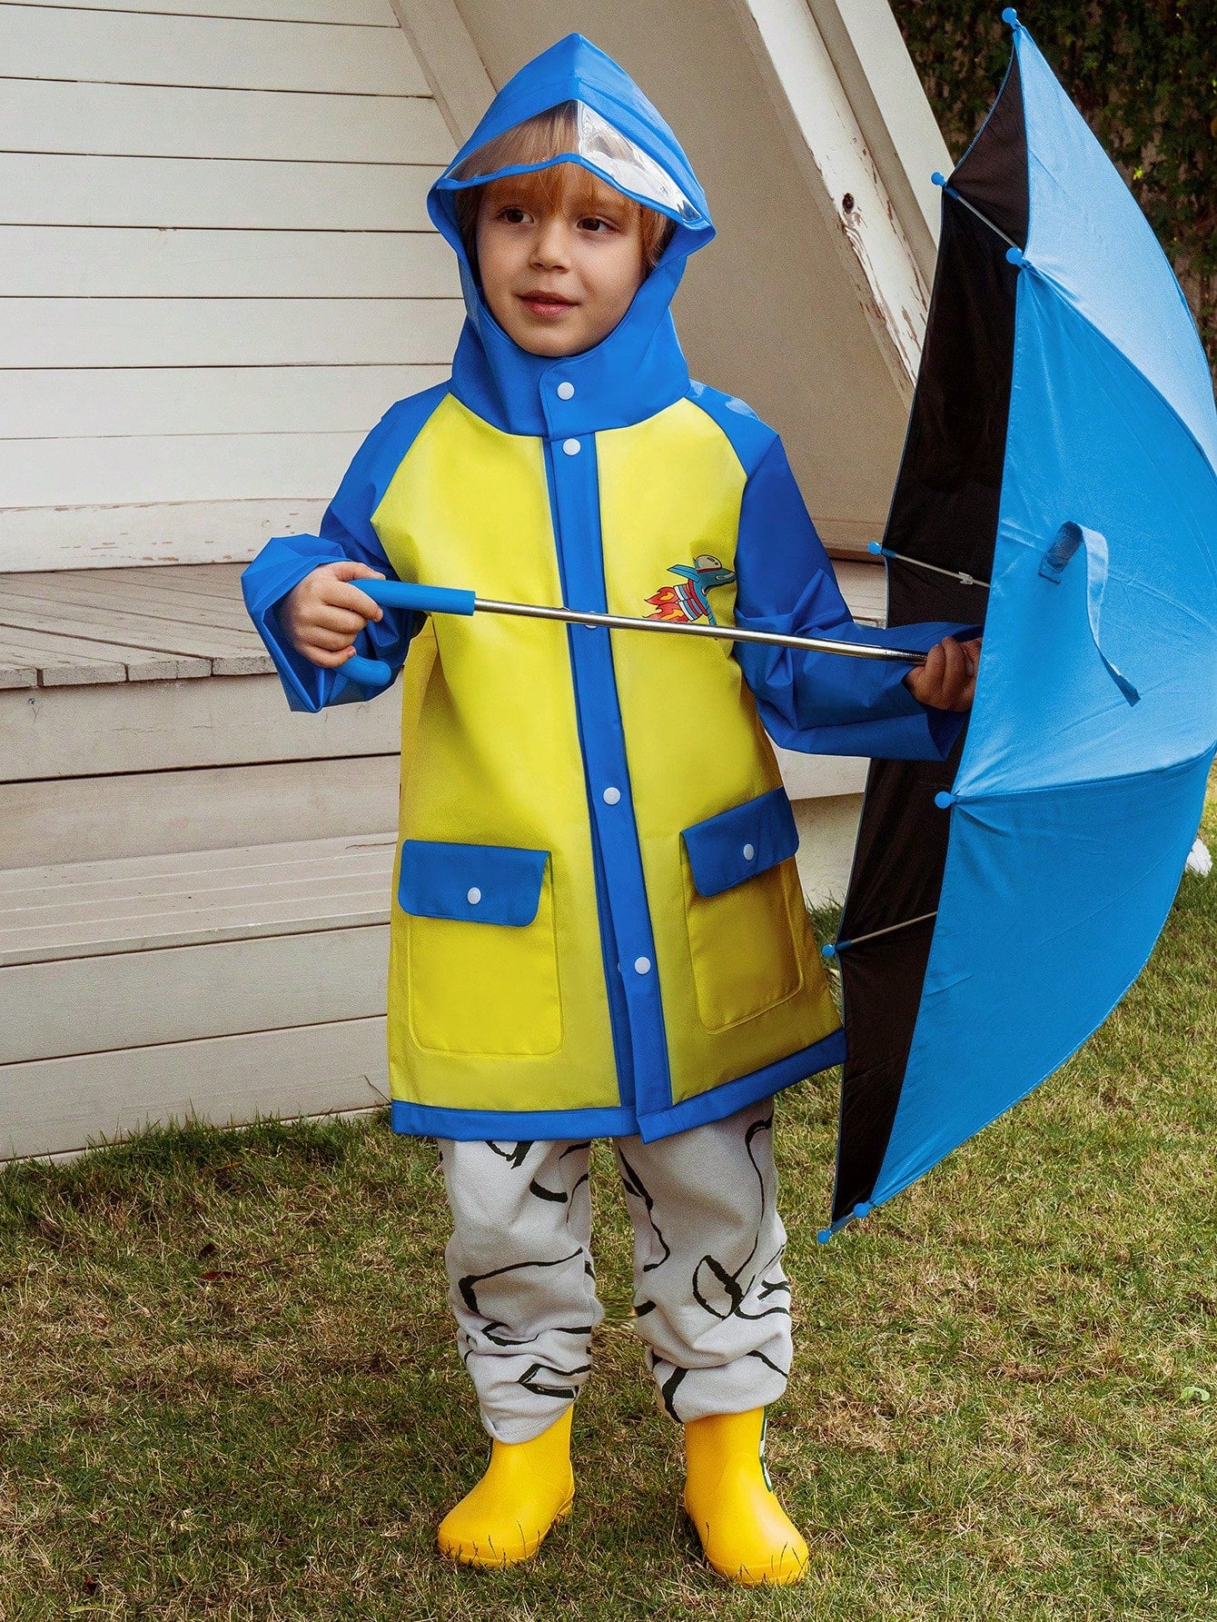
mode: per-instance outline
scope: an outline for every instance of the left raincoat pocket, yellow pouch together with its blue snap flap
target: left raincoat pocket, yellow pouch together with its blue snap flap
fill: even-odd
[[[407,839],[397,903],[420,1048],[501,1058],[561,1046],[548,850]]]

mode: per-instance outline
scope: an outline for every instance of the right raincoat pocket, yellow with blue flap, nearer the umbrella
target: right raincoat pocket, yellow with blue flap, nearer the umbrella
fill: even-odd
[[[755,1019],[802,986],[799,830],[784,788],[681,834],[689,949],[707,1030]]]

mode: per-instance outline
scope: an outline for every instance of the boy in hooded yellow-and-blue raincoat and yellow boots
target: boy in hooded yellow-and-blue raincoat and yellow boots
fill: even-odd
[[[245,587],[297,707],[365,696],[342,675],[357,639],[405,663],[392,1124],[439,1140],[449,1301],[493,1439],[439,1546],[522,1560],[570,1507],[570,1413],[601,1315],[588,1140],[604,1135],[707,1559],[796,1581],[807,1546],[760,1457],[791,1359],[771,1095],[839,1062],[843,1036],[765,727],[794,748],[940,757],[979,646],[903,626],[901,644],[932,649],[909,670],[382,615],[358,581],[392,573],[854,629],[778,436],[689,381],[668,305],[713,225],[611,58],[572,34],[528,63],[428,208],[468,310],[452,378],[387,412],[321,534],[271,542]]]

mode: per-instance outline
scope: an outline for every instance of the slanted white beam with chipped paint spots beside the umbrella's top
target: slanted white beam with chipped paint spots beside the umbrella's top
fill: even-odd
[[[930,294],[849,96],[805,0],[731,0],[809,190],[835,227],[877,345],[904,401],[920,362]],[[852,208],[844,209],[849,196]]]

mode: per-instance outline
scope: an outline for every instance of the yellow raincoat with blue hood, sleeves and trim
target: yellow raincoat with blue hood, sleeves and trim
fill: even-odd
[[[579,114],[564,161],[676,225],[619,326],[553,358],[491,316],[454,193],[485,141],[562,102]],[[499,91],[428,208],[468,311],[451,380],[386,412],[318,535],[271,540],[243,576],[288,704],[366,697],[277,620],[340,558],[493,599],[854,634],[778,435],[689,378],[669,302],[713,225],[632,79],[559,41]],[[946,629],[903,626],[899,644]],[[906,665],[392,610],[357,646],[405,665],[395,1131],[656,1139],[841,1061],[766,728],[796,749],[942,757],[959,717],[924,709]]]

